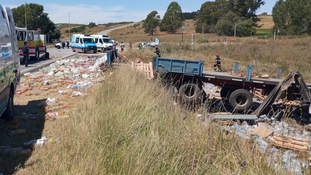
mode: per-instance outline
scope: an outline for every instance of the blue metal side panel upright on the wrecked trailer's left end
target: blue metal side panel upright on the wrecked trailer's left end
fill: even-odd
[[[154,56],[152,59],[153,70],[183,73],[188,75],[202,76],[204,61],[182,60],[173,58],[159,58]]]

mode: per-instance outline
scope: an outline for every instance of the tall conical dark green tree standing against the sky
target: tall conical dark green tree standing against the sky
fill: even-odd
[[[175,34],[183,24],[183,21],[185,21],[185,19],[183,18],[179,4],[177,2],[171,2],[163,16],[160,30]]]

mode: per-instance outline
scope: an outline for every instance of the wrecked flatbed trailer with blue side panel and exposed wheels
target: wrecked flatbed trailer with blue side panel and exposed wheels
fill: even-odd
[[[180,97],[186,102],[197,100],[202,93],[204,83],[221,86],[221,98],[227,98],[231,107],[238,110],[251,108],[253,104],[253,93],[261,89],[263,95],[268,95],[281,80],[274,78],[251,78],[230,75],[226,72],[204,71],[204,61],[183,60],[173,58],[153,57],[153,70],[164,74],[169,83],[173,84],[179,91]],[[311,89],[311,84],[307,83]],[[299,97],[299,89],[295,82],[287,89],[288,100]]]

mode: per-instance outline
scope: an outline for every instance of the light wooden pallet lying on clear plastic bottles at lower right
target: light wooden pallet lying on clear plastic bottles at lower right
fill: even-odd
[[[291,150],[304,151],[308,150],[308,140],[299,137],[292,137],[275,133],[273,135],[272,145],[288,148]]]

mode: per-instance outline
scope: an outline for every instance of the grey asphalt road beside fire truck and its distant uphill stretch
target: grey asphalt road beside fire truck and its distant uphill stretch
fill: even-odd
[[[131,23],[131,24],[127,24],[127,25],[122,25],[119,27],[115,27],[112,29],[108,29],[108,30],[104,30],[99,32],[97,35],[105,35],[107,32],[110,32],[112,30],[116,30],[116,29],[121,29],[123,27],[127,27],[130,25],[134,25],[136,23]],[[55,62],[56,60],[60,60],[63,58],[67,58],[70,57],[74,54],[77,54],[77,52],[73,53],[71,48],[64,48],[64,49],[57,49],[57,48],[49,48],[47,49],[47,52],[49,52],[49,56],[52,59],[42,59],[42,60],[30,60],[28,62],[28,67],[25,67],[25,65],[21,65],[21,74],[24,74],[26,72],[31,72],[31,71],[35,71],[41,67],[45,67],[48,66],[49,64]],[[53,57],[61,57],[61,58],[53,58]]]

